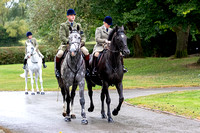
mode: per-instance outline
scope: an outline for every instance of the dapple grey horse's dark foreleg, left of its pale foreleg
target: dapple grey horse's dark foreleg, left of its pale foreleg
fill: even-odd
[[[66,89],[66,102],[67,102],[67,109],[66,109],[66,116],[65,116],[65,121],[69,122],[71,121],[71,117],[70,117],[70,101],[71,101],[71,97],[69,94],[69,87],[67,87]]]

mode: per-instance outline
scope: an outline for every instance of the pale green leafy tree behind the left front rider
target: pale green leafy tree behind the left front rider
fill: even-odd
[[[27,10],[30,31],[39,35],[44,43],[58,46],[60,24],[67,21],[66,9],[74,8],[76,0],[34,0]]]

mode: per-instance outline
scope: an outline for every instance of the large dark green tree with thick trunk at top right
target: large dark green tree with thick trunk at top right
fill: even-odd
[[[166,29],[176,32],[175,57],[181,58],[187,56],[189,32],[193,37],[197,33],[199,15],[199,0],[140,0],[136,9],[125,13],[125,18],[138,23],[133,34],[145,40]]]

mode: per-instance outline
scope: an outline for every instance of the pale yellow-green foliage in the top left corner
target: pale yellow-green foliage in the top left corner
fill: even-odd
[[[25,37],[28,24],[25,17],[26,0],[0,2],[0,46],[10,46]]]

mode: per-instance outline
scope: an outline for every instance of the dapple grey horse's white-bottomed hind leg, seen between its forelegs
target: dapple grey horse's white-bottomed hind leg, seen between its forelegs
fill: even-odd
[[[77,84],[74,83],[72,86],[72,91],[71,91],[71,118],[75,119],[76,115],[74,114],[74,97],[76,95],[76,88],[77,88]]]

